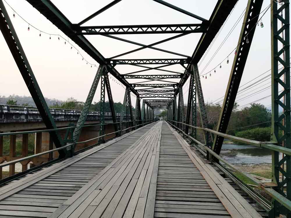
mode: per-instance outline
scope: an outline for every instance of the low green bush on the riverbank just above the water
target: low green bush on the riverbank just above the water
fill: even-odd
[[[271,134],[271,127],[263,127],[263,128],[253,128],[248,129],[245,131],[240,131],[235,133],[235,136],[261,141],[261,142],[267,142],[270,141],[270,134]]]

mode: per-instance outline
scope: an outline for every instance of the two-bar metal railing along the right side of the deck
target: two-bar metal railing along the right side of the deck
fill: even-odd
[[[180,131],[183,134],[184,137],[187,137],[187,138],[191,139],[198,147],[200,147],[201,149],[207,151],[210,154],[210,156],[213,156],[213,157],[217,158],[220,162],[223,162],[223,164],[225,164],[229,168],[239,172],[240,174],[243,174],[244,176],[249,178],[251,181],[253,181],[256,185],[258,185],[267,194],[272,196],[272,198],[274,198],[276,201],[278,201],[283,206],[285,206],[285,208],[287,208],[288,210],[291,210],[291,201],[288,200],[287,198],[285,198],[283,195],[281,195],[278,192],[276,192],[274,189],[272,189],[272,184],[270,184],[270,183],[264,184],[264,183],[260,182],[258,179],[256,179],[253,176],[251,176],[250,174],[247,174],[246,172],[238,169],[236,166],[234,166],[231,163],[227,162],[221,156],[219,156],[217,153],[215,153],[206,144],[203,144],[203,143],[199,142],[198,140],[193,138],[191,135],[188,135],[187,133],[185,133],[182,129],[184,129],[185,126],[189,126],[191,128],[196,128],[196,129],[200,129],[200,130],[206,131],[206,132],[208,132],[210,134],[213,134],[213,135],[219,135],[219,136],[222,136],[224,138],[235,140],[235,141],[238,141],[238,142],[243,142],[243,143],[254,145],[254,146],[258,146],[258,147],[264,147],[264,148],[270,149],[272,151],[283,152],[283,153],[285,153],[287,155],[291,155],[291,149],[272,144],[272,142],[259,142],[259,141],[255,141],[255,140],[249,140],[249,139],[245,139],[245,138],[241,138],[241,137],[236,137],[236,136],[233,136],[233,135],[228,135],[228,134],[225,134],[225,133],[220,133],[220,132],[214,131],[212,129],[208,129],[208,128],[201,128],[201,127],[197,127],[197,126],[192,126],[190,124],[185,124],[185,123],[177,122],[177,121],[174,121],[174,120],[167,119],[166,121],[168,122],[168,124],[170,124],[175,129]],[[174,125],[173,123],[176,123],[176,125]],[[182,125],[182,129],[180,129],[179,128],[180,126],[178,127],[177,124],[181,124]],[[211,161],[211,158],[210,158],[210,161]]]

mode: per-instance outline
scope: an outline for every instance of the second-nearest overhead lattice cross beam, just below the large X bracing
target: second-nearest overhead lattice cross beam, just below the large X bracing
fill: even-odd
[[[110,64],[189,64],[189,58],[166,58],[166,59],[108,59]]]

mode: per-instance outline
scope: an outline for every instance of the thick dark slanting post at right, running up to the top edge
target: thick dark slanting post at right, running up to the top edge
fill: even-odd
[[[217,125],[217,131],[221,133],[226,133],[227,130],[239,84],[244,72],[244,66],[249,54],[253,35],[255,33],[255,28],[258,23],[262,2],[263,0],[249,0],[246,7],[246,13],[244,16],[244,21],[242,22],[242,29],[236,48],[237,54],[233,60],[228,86],[226,88],[226,93]],[[215,136],[212,145],[212,149],[215,151],[215,153],[220,153],[223,140],[224,137],[218,135]]]

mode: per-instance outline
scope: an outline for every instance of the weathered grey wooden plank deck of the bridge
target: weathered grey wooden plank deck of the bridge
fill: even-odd
[[[165,121],[0,189],[0,218],[261,217]]]

